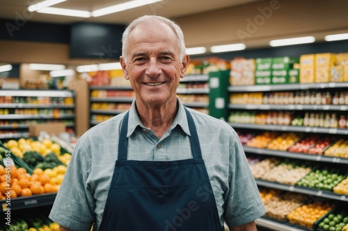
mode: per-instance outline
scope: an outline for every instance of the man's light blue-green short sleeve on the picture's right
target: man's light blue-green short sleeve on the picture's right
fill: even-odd
[[[236,133],[230,146],[229,184],[225,212],[225,221],[229,227],[250,223],[266,212]]]

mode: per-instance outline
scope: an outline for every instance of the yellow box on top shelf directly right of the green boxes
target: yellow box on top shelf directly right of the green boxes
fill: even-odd
[[[300,83],[315,82],[315,54],[300,56]]]

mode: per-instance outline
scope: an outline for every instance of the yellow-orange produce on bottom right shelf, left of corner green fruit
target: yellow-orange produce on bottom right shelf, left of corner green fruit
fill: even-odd
[[[331,209],[333,209],[331,203],[316,201],[314,203],[308,203],[301,207],[297,207],[286,216],[290,223],[312,229],[315,221],[320,219]]]

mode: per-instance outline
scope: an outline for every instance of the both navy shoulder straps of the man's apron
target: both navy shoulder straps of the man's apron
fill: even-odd
[[[198,139],[198,134],[196,130],[196,125],[193,121],[191,113],[187,108],[184,108],[186,111],[187,122],[189,124],[189,130],[191,133],[190,142],[191,142],[191,152],[193,155],[193,159],[202,159],[202,152],[200,151],[200,143]],[[127,130],[128,130],[128,117],[129,111],[125,114],[122,120],[122,126],[120,131],[120,138],[118,143],[118,158],[117,160],[127,160],[127,151],[128,151],[128,138],[127,138]]]

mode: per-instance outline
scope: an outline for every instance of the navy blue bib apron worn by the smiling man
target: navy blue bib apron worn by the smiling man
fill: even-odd
[[[212,186],[195,123],[185,108],[193,159],[127,160],[128,113],[122,121],[109,194],[100,230],[221,231]]]

